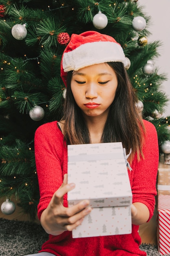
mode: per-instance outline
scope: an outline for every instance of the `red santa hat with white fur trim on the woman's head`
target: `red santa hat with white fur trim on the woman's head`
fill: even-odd
[[[66,85],[68,71],[112,61],[125,61],[124,51],[113,37],[96,31],[72,34],[62,55],[62,80]]]

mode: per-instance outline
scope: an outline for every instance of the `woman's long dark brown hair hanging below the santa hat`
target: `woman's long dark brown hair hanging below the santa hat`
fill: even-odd
[[[127,153],[132,148],[130,160],[135,152],[140,159],[143,156],[144,125],[136,107],[137,97],[124,64],[110,62],[108,65],[116,72],[118,86],[115,99],[109,109],[101,143],[121,141]],[[67,144],[88,144],[91,143],[88,128],[71,91],[72,73],[73,71],[68,72],[67,76],[67,92],[62,119],[64,120],[64,138]]]

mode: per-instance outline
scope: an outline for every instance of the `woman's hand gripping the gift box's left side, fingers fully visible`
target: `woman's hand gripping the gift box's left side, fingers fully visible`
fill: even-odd
[[[64,231],[72,231],[80,225],[91,207],[89,201],[83,200],[72,207],[63,206],[63,196],[75,188],[75,184],[67,184],[67,174],[64,175],[63,184],[54,193],[48,207],[42,212],[41,225],[46,233],[57,236]]]

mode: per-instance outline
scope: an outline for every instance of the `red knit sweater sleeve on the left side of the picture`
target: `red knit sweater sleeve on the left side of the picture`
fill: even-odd
[[[38,204],[38,218],[48,206],[53,194],[63,182],[66,168],[63,169],[64,158],[67,159],[67,150],[64,152],[62,132],[57,128],[57,122],[40,126],[35,132],[35,163],[40,189]],[[66,206],[66,195],[64,206]]]

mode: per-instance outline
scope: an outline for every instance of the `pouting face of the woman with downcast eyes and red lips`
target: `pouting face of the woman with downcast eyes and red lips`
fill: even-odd
[[[117,83],[112,67],[107,63],[95,64],[73,72],[71,90],[75,102],[86,116],[107,116]]]

